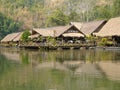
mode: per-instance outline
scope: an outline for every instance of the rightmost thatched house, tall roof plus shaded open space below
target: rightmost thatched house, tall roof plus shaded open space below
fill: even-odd
[[[120,46],[120,17],[111,18],[99,32],[93,33],[107,40],[108,46]]]

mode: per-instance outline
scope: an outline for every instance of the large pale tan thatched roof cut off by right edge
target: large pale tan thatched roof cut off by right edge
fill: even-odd
[[[120,36],[120,17],[110,19],[96,35],[102,37]]]

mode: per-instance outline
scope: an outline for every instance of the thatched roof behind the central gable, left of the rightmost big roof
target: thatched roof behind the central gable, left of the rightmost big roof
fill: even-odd
[[[106,20],[92,21],[87,23],[74,22],[72,25],[76,26],[85,35],[91,35],[94,32],[98,32],[106,23]]]

